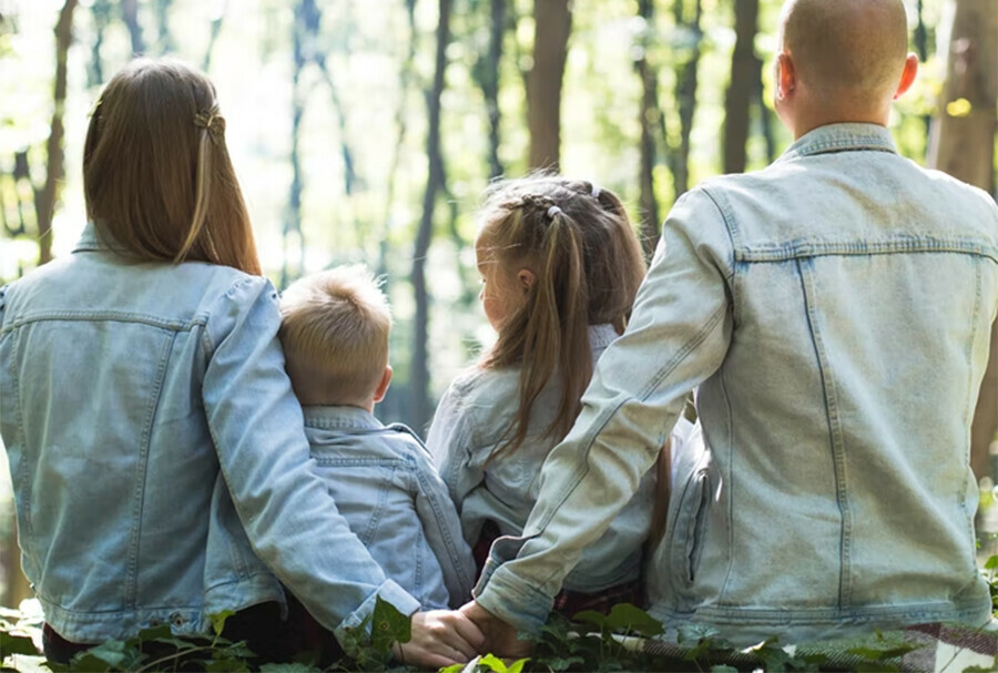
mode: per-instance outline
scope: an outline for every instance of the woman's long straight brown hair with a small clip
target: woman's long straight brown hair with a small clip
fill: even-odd
[[[88,216],[144,261],[259,274],[215,88],[173,60],[136,59],[101,93],[83,150]]]

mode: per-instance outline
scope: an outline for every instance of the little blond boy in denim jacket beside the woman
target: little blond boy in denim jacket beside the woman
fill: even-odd
[[[391,315],[363,265],[302,278],[281,298],[286,368],[336,507],[370,555],[425,610],[460,605],[471,551],[429,452],[373,415],[391,380]]]

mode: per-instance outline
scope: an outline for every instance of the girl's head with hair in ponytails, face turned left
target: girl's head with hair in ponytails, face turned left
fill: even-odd
[[[589,326],[623,332],[645,265],[620,198],[585,181],[536,174],[497,182],[479,217],[478,247],[505,268],[536,274],[479,363],[521,367],[517,412],[491,460],[522,446],[533,402],[556,376],[561,398],[544,435],[568,434],[592,377]]]

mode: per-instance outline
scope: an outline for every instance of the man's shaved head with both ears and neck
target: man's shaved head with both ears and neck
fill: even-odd
[[[917,71],[907,48],[902,0],[787,0],[776,111],[797,137],[835,122],[886,124]]]

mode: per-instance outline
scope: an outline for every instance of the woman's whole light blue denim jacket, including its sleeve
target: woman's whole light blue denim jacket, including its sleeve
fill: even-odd
[[[211,613],[283,602],[267,567],[340,635],[378,594],[418,609],[315,473],[279,319],[266,279],[128,262],[92,225],[0,290],[22,565],[62,636],[203,631]]]

